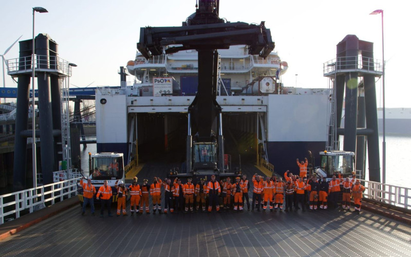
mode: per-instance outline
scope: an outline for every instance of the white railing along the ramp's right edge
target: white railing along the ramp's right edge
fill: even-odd
[[[411,210],[411,188],[387,185],[362,179],[360,179],[360,181],[364,182],[365,198]]]

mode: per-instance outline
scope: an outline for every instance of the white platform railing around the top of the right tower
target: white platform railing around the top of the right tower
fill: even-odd
[[[358,72],[359,75],[372,74],[382,76],[382,61],[363,56],[338,57],[323,64],[324,77],[332,77],[346,72]]]

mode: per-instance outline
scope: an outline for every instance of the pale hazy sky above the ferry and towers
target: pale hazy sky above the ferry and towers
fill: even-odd
[[[70,84],[85,87],[120,85],[118,70],[134,60],[140,27],[181,26],[195,12],[195,0],[123,1],[3,1],[0,10],[0,54],[23,35],[32,38],[32,7],[46,8],[35,14],[35,35],[47,33],[59,44],[61,58],[78,65]],[[285,86],[325,88],[323,64],[335,58],[336,45],[347,34],[374,43],[374,58],[382,60],[381,14],[384,10],[385,106],[411,107],[411,87],[406,78],[411,35],[406,1],[276,1],[220,0],[220,17],[231,22],[265,21],[275,42],[274,51],[289,65],[282,76]],[[6,54],[18,58],[18,44]],[[297,76],[296,76],[297,74]],[[133,76],[131,76],[133,77]],[[3,73],[0,72],[3,87]],[[131,79],[130,81],[133,81]],[[6,87],[16,87],[6,75]],[[71,86],[71,85],[70,85]],[[382,106],[382,79],[376,82],[377,104]]]

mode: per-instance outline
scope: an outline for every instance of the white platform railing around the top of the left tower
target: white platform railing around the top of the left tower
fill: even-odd
[[[7,74],[20,74],[32,70],[31,56],[7,60]],[[37,71],[55,71],[69,76],[69,62],[57,56],[34,55],[35,69]]]

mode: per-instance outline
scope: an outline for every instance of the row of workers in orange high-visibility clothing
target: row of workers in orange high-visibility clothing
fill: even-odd
[[[338,208],[337,201],[342,194],[343,210],[350,210],[351,196],[354,200],[354,212],[359,213],[361,210],[361,198],[365,188],[360,185],[360,180],[356,179],[355,172],[349,177],[342,178],[341,174],[333,175],[332,179],[327,182],[326,177],[317,179],[315,174],[307,178],[307,158],[305,161],[299,162],[300,174],[293,175],[289,171],[284,173],[285,181],[282,177],[267,177],[265,180],[254,174],[252,177],[253,193],[251,211],[255,209],[263,211],[269,209],[283,211],[285,201],[285,210],[292,211],[301,209],[305,211],[306,205],[309,210],[327,209],[328,202],[332,208]],[[338,176],[338,177],[337,177]],[[83,179],[85,179],[83,177]],[[96,189],[91,185],[91,180],[87,179],[87,183],[80,184],[84,189],[83,209],[85,213],[87,204],[91,206],[91,213],[94,215],[93,196],[96,194]],[[247,202],[247,208],[250,211],[249,190],[250,182],[247,175],[236,177],[234,183],[231,183],[231,178],[227,177],[221,181],[217,181],[215,175],[211,176],[211,180],[206,182],[203,178],[194,185],[192,178],[188,178],[188,182],[181,183],[179,178],[175,178],[172,182],[170,178],[165,178],[162,181],[160,178],[154,177],[153,183],[148,184],[148,180],[144,179],[143,184],[137,183],[138,178],[133,178],[133,183],[128,188],[125,187],[123,181],[116,181],[115,188],[117,189],[117,216],[121,213],[127,215],[125,202],[126,197],[130,196],[130,215],[142,214],[143,212],[150,214],[148,204],[149,197],[152,198],[153,214],[158,213],[178,213],[193,212],[202,210],[211,212],[213,208],[217,212],[220,209],[234,211],[243,211],[244,204]],[[164,208],[161,206],[161,188],[164,188]],[[111,216],[110,204],[113,192],[111,187],[104,181],[104,185],[97,192],[97,199],[101,199],[100,215],[103,216],[104,209],[107,208],[108,216]],[[200,208],[201,206],[201,208]]]

